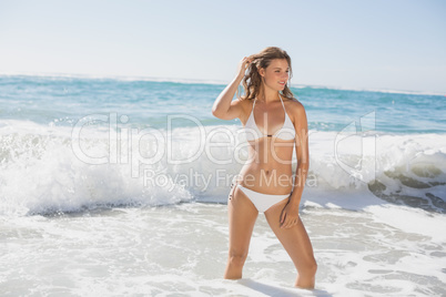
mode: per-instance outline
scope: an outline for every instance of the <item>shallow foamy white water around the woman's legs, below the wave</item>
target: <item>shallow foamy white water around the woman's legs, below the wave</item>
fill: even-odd
[[[226,206],[185,203],[3,218],[0,293],[2,296],[446,294],[444,235],[408,232],[386,222],[389,221],[386,215],[377,218],[375,214],[379,212],[395,211],[389,204],[371,205],[366,211],[322,207],[311,202],[305,205],[301,217],[318,264],[314,291],[292,287],[294,266],[263,215],[259,216],[253,233],[244,279],[222,279],[227,253]],[[413,209],[404,212],[409,214]],[[432,214],[417,215],[434,219]],[[442,229],[438,226],[437,232]]]

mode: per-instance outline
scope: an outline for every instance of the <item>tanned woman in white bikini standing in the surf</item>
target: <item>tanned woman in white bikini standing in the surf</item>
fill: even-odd
[[[245,57],[212,109],[219,119],[239,117],[250,144],[249,162],[232,184],[227,201],[230,249],[224,277],[242,277],[254,223],[261,212],[297,269],[295,286],[314,288],[317,265],[298,216],[308,170],[307,123],[304,106],[287,85],[290,73],[290,55],[278,48]],[[232,101],[242,80],[245,94]],[[294,146],[297,168],[293,182]]]

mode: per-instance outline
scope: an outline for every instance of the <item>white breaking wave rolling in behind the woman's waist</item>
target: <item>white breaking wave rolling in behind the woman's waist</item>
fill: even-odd
[[[129,142],[122,142],[124,135],[115,137],[120,141],[116,144],[113,139],[110,142],[108,129],[85,126],[80,133],[81,151],[84,156],[105,161],[94,165],[73,151],[71,127],[2,121],[1,213],[78,212],[192,199],[224,203],[232,177],[247,158],[246,143],[239,132],[239,126],[179,127],[170,133],[159,130],[163,140],[171,140],[170,146],[148,132],[129,148]],[[336,143],[337,135],[310,134],[311,167],[305,190],[310,196],[317,196],[318,191],[342,193],[344,201],[331,203],[357,208],[367,204],[362,203],[365,198],[348,197],[369,196],[372,191],[386,201],[446,209],[446,135],[364,134],[351,137],[345,145]],[[362,150],[364,143],[376,150]],[[344,145],[338,155],[335,145]],[[148,160],[158,153],[159,161],[150,164]],[[172,160],[186,162],[176,164]]]

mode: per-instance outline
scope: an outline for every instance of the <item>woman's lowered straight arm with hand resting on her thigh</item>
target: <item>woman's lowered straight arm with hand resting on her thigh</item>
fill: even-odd
[[[301,204],[302,193],[304,192],[306,175],[310,167],[308,125],[306,121],[305,107],[300,102],[296,102],[292,111],[294,114],[294,129],[296,131],[295,148],[296,148],[297,168],[295,172],[293,192],[291,193],[290,202],[285,205],[285,207],[282,211],[281,215],[282,228],[291,228],[297,225],[298,206]]]

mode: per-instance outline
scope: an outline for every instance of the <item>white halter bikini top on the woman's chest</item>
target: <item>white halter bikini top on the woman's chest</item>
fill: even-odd
[[[294,140],[296,131],[294,130],[293,122],[291,121],[288,114],[286,113],[285,105],[283,104],[282,96],[278,95],[282,102],[283,111],[285,112],[285,121],[280,130],[277,130],[274,134],[268,135],[268,134],[263,134],[262,131],[257,127],[257,124],[255,123],[254,119],[254,106],[255,106],[255,101],[253,103],[253,109],[251,110],[250,117],[247,117],[246,124],[244,126],[244,132],[246,134],[246,140],[247,141],[255,141],[262,137],[277,137],[280,140],[284,141],[291,141]]]

